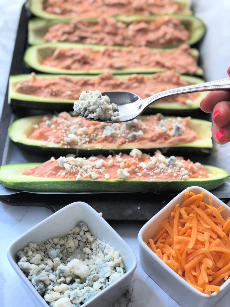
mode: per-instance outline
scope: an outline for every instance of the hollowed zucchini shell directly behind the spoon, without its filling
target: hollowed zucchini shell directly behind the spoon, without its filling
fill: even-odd
[[[151,75],[144,74],[145,76],[151,77]],[[131,75],[117,75],[117,78],[125,79]],[[45,75],[40,74],[36,75],[36,78],[59,78],[60,75]],[[70,76],[74,79],[79,78],[95,78],[95,76]],[[184,76],[181,75],[181,78],[187,81],[190,85],[199,84],[205,82],[204,80],[194,77],[194,76]],[[59,98],[43,98],[33,95],[27,95],[22,93],[17,93],[15,87],[19,82],[31,80],[31,75],[17,75],[10,76],[9,80],[9,94],[8,94],[8,103],[16,107],[25,107],[37,110],[58,110],[58,111],[72,111],[73,103],[75,100],[71,99],[59,99]],[[179,103],[153,103],[145,113],[163,113],[163,114],[189,114],[191,111],[197,110],[200,108],[201,99],[207,95],[207,92],[200,92],[197,99],[195,99],[191,105],[179,104]]]

